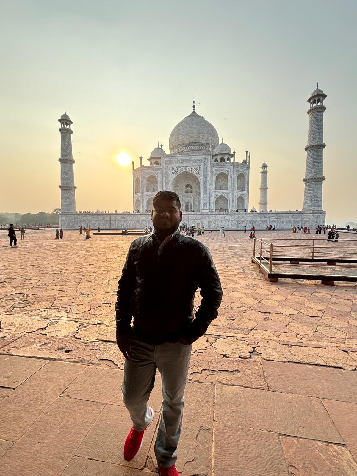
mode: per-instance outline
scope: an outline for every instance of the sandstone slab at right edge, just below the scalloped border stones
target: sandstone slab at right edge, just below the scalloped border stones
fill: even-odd
[[[357,403],[357,372],[269,360],[261,364],[273,391]]]

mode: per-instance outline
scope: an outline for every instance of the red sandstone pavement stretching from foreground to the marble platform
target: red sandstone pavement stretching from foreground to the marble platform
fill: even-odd
[[[53,238],[29,230],[10,249],[0,233],[0,474],[157,474],[159,375],[140,456],[122,457],[130,420],[114,303],[133,237]],[[348,238],[339,244],[355,246]],[[356,285],[268,283],[250,261],[247,234],[206,231],[199,239],[224,297],[192,349],[180,474],[357,475]]]

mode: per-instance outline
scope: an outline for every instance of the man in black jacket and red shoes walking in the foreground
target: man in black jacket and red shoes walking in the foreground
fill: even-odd
[[[191,344],[217,317],[222,288],[208,248],[179,233],[182,212],[178,195],[162,190],[152,203],[154,231],[131,243],[115,306],[117,344],[125,357],[121,390],[133,422],[124,458],[130,461],[138,455],[144,432],[153,420],[147,402],[159,369],[163,404],[155,456],[159,476],[178,476],[176,449]],[[182,266],[185,263],[195,273],[187,273]],[[202,300],[194,318],[193,299],[198,288]],[[149,314],[148,309],[152,309]]]

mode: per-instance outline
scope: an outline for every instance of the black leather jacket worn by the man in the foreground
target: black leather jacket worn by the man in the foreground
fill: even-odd
[[[180,337],[194,342],[218,314],[222,288],[207,246],[176,233],[159,256],[157,238],[135,239],[118,283],[115,305],[117,337],[134,333],[158,345]],[[201,304],[193,315],[195,292]],[[134,317],[130,327],[131,317]]]

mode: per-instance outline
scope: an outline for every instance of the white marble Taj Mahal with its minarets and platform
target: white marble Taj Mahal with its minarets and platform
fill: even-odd
[[[265,229],[291,229],[293,226],[315,228],[326,222],[322,209],[323,176],[323,113],[327,95],[317,88],[307,99],[309,108],[306,150],[304,203],[299,211],[268,211],[268,165],[260,167],[260,199],[258,210],[249,209],[250,154],[243,159],[235,150],[218,138],[217,130],[196,112],[192,112],[172,129],[169,153],[158,143],[150,153],[147,163],[139,157],[139,167],[134,169],[133,213],[78,213],[72,156],[73,122],[62,114],[61,138],[61,228],[80,226],[103,229],[143,229],[150,226],[152,199],[159,190],[173,190],[181,200],[183,222],[196,227],[239,230],[245,226]]]

